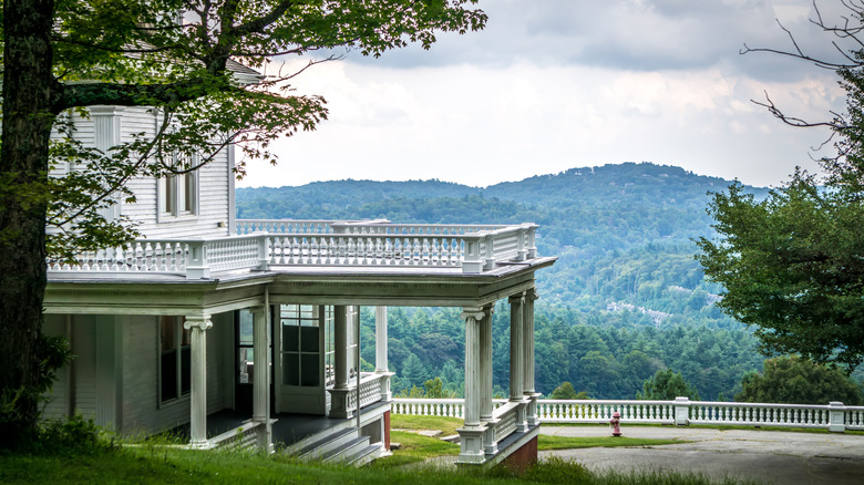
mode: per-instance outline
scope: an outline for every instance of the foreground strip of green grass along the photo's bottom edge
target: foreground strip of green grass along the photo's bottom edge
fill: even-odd
[[[84,454],[0,454],[0,483],[709,485],[739,482],[652,472],[596,475],[578,463],[559,458],[543,461],[525,475],[516,476],[497,468],[487,473],[422,466],[352,468],[298,463],[284,455],[137,446],[104,447]]]

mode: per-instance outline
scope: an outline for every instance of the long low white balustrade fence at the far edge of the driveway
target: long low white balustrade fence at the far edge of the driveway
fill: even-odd
[[[498,407],[506,400],[494,400]],[[394,399],[394,414],[463,417],[461,399]],[[744,426],[816,427],[834,432],[864,431],[864,406],[829,404],[768,404],[690,401],[537,400],[537,417],[544,423],[607,424],[614,412],[621,422],[646,424],[707,424]]]

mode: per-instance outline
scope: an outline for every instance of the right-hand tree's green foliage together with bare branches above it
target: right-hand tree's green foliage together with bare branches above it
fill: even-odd
[[[833,37],[837,60],[808,55],[795,42],[790,51],[750,49],[832,69],[845,90],[845,112],[808,122],[784,113],[768,99],[762,106],[799,127],[827,127],[835,153],[819,162],[824,176],[796,171],[761,203],[740,185],[716,194],[709,211],[717,240],[702,238],[699,260],[706,274],[726,287],[720,306],[757,326],[769,354],[794,354],[847,371],[864,361],[864,6],[841,2],[837,23],[817,14],[811,24]],[[817,12],[819,13],[819,12]],[[827,144],[827,143],[826,143]]]

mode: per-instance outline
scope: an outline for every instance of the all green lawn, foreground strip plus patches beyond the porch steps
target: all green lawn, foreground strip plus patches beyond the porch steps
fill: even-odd
[[[393,427],[442,430],[455,433],[461,420],[423,416],[393,416]],[[459,453],[459,445],[410,432],[393,432],[402,448],[370,466],[301,463],[272,454],[228,451],[192,451],[165,446],[165,442],[114,445],[95,438],[82,421],[49,436],[31,452],[0,452],[0,484],[573,484],[573,485],[711,485],[738,484],[709,481],[698,475],[634,473],[597,475],[576,462],[557,457],[544,460],[515,476],[505,468],[434,467],[420,465],[428,458]],[[91,425],[92,426],[92,423]],[[71,430],[71,431],[70,431]],[[102,443],[101,445],[99,443]],[[575,438],[542,436],[542,450],[585,446],[642,446],[650,440]],[[415,466],[403,466],[415,464]]]

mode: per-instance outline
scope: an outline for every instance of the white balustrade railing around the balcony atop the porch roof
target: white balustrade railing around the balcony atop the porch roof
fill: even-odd
[[[210,272],[289,267],[459,268],[480,274],[536,257],[534,224],[390,224],[387,220],[238,220],[237,235],[142,239],[49,261],[54,272],[147,272],[209,278]]]

